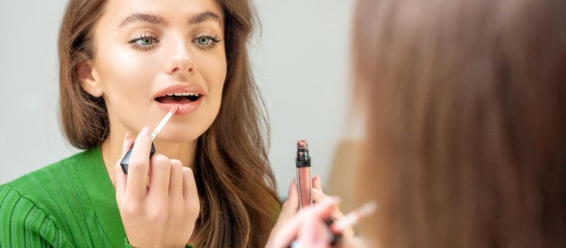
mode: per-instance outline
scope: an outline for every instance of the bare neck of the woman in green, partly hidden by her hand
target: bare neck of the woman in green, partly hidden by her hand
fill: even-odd
[[[115,164],[122,158],[122,142],[124,142],[125,135],[125,130],[111,132],[101,147],[106,171],[108,171],[108,176],[110,176],[110,181],[112,181],[114,186]],[[130,134],[131,139],[135,140],[136,137],[137,133]],[[165,155],[169,159],[178,159],[183,163],[184,167],[192,169],[195,151],[197,150],[197,140],[192,142],[163,142],[156,139],[154,140],[154,145],[158,153]]]

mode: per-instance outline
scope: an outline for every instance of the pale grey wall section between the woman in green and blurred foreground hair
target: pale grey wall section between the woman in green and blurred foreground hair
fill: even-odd
[[[262,34],[253,61],[272,125],[272,167],[279,193],[287,195],[296,140],[308,140],[313,174],[325,182],[345,135],[354,1],[255,2]]]

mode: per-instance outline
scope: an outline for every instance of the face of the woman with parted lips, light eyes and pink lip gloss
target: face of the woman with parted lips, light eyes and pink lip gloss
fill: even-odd
[[[180,106],[158,139],[192,141],[204,133],[226,78],[223,23],[214,0],[108,1],[93,27],[91,74],[110,130],[155,128]]]

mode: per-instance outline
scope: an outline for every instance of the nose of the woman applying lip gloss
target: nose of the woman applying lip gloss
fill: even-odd
[[[190,43],[189,43],[190,44]],[[168,52],[169,58],[166,63],[166,72],[168,74],[192,72],[195,69],[192,53],[189,44],[185,40],[180,40],[171,44],[171,50]]]

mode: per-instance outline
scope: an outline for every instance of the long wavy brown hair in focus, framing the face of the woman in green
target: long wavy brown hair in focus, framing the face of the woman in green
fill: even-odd
[[[71,0],[59,30],[59,108],[65,137],[80,149],[108,136],[103,98],[81,88],[77,65],[93,58],[94,23],[104,0]],[[279,200],[267,159],[269,125],[250,72],[248,39],[255,13],[248,0],[219,0],[225,16],[227,74],[220,111],[198,139],[195,180],[202,203],[191,240],[197,247],[262,247]]]

